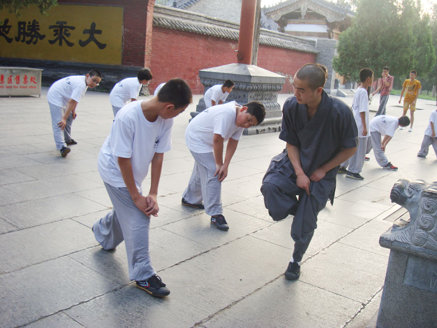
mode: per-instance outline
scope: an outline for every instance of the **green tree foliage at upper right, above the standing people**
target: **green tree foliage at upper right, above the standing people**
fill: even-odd
[[[384,66],[401,79],[411,69],[423,76],[436,64],[429,21],[414,0],[359,0],[352,26],[339,37],[333,67],[355,81],[365,67],[375,77]]]

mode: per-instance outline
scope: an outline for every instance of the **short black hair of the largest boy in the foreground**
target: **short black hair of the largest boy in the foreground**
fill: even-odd
[[[158,101],[174,104],[175,109],[185,107],[193,101],[193,94],[183,79],[171,79],[158,92]]]

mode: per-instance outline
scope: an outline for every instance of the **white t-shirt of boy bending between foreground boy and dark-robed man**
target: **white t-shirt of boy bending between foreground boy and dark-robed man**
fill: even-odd
[[[237,103],[212,106],[195,116],[185,130],[188,149],[195,153],[214,152],[213,138],[218,134],[224,138],[239,140],[244,128],[235,125]]]

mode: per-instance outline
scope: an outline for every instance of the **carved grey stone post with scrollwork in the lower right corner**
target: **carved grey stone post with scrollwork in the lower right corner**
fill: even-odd
[[[390,257],[376,327],[437,327],[437,183],[400,179],[390,198],[410,222],[379,239]]]

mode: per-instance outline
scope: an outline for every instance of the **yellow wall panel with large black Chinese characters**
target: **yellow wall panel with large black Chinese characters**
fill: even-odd
[[[59,4],[0,11],[2,57],[121,65],[123,7]]]

